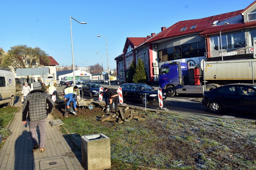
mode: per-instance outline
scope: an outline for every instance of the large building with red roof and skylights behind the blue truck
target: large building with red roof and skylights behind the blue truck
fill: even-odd
[[[254,37],[256,1],[242,10],[179,21],[168,28],[162,27],[160,33],[152,33],[145,41],[142,38],[127,38],[123,55],[115,60],[118,63],[123,57],[122,76],[125,79],[129,64],[141,58],[148,83],[158,84],[159,68],[166,62],[187,62],[191,66],[199,65],[202,59],[256,58],[253,55]],[[120,64],[117,66],[122,67]]]

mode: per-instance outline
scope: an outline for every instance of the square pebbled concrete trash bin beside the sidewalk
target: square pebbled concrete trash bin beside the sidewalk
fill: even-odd
[[[111,168],[110,139],[102,133],[81,136],[82,165],[85,170]]]

